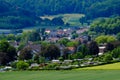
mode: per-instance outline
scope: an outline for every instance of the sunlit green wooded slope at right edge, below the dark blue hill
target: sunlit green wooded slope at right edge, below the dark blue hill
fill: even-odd
[[[117,34],[120,31],[120,17],[102,18],[95,20],[90,27],[91,31],[104,34]]]

